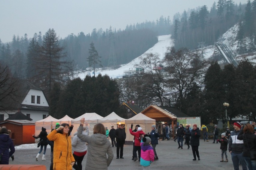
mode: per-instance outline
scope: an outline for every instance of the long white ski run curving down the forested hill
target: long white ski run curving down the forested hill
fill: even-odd
[[[167,47],[173,46],[173,41],[171,39],[171,35],[162,35],[158,36],[158,42],[151,48],[149,48],[144,54],[141,56],[147,54],[147,53],[158,53],[160,59],[163,59]],[[139,56],[140,57],[140,56]],[[123,64],[118,69],[112,69],[112,70],[97,70],[95,71],[95,76],[97,76],[99,73],[101,75],[108,75],[110,78],[122,78],[124,75],[124,71],[128,71],[130,68],[133,70],[135,69],[135,65],[139,64],[140,59],[139,57],[133,59],[130,63]],[[93,76],[93,71],[84,71],[77,74],[77,77],[80,77],[81,79],[84,79],[86,75]]]

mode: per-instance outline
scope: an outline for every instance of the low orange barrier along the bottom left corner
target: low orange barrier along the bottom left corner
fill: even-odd
[[[0,165],[0,170],[46,170],[45,165]]]

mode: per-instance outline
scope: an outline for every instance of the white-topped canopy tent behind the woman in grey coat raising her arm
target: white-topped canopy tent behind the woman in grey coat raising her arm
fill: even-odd
[[[98,123],[99,119],[102,119],[103,117],[98,115],[97,113],[84,113],[83,115],[71,120],[72,125],[74,125],[74,128],[72,130],[72,137],[74,136],[74,133],[77,131],[77,128],[80,125],[80,120],[84,118],[84,124],[87,123],[89,127],[89,135],[93,134],[93,127]]]

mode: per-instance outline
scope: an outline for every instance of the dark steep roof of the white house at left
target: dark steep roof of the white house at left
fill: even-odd
[[[2,110],[6,110],[6,109],[17,110],[17,109],[21,109],[21,108],[25,108],[28,110],[46,110],[46,111],[49,110],[48,107],[42,107],[42,106],[38,107],[38,106],[21,104],[30,89],[42,91],[41,88],[30,83],[28,80],[18,80],[16,82],[16,84],[14,85],[14,88],[16,90],[15,94],[12,97],[8,96],[3,101],[1,101],[3,103],[3,105],[5,105],[5,108],[3,108]]]

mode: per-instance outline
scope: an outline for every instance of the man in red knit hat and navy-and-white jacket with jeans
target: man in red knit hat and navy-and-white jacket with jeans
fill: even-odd
[[[245,163],[245,159],[242,156],[243,149],[244,149],[244,142],[243,140],[237,139],[237,136],[239,135],[239,132],[241,130],[241,123],[235,122],[233,124],[234,131],[231,131],[230,138],[228,141],[228,151],[231,154],[231,159],[233,162],[234,169],[239,169],[239,163],[242,165],[243,170],[247,170],[247,166]]]

